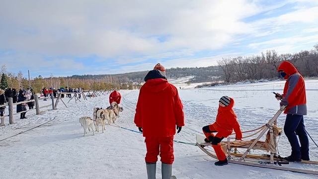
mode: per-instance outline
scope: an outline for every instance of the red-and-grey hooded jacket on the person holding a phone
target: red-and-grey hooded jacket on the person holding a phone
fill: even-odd
[[[283,100],[280,102],[281,105],[287,105],[284,113],[307,115],[306,89],[303,76],[288,61],[283,61],[277,71],[286,73]]]

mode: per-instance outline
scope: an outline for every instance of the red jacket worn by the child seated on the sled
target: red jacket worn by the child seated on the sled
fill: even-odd
[[[242,139],[242,132],[239,128],[237,115],[233,111],[234,99],[231,97],[230,99],[231,102],[228,106],[219,106],[216,121],[212,125],[223,137],[228,137],[234,129],[236,138],[240,140]]]

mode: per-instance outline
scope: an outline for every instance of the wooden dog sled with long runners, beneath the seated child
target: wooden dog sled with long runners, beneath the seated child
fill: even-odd
[[[252,135],[243,136],[243,138],[247,138],[259,133],[256,139],[247,140],[247,141],[231,141],[231,137],[228,137],[228,141],[221,142],[220,145],[222,146],[222,150],[224,151],[224,153],[227,155],[228,163],[318,175],[318,171],[294,168],[294,167],[286,167],[288,166],[289,162],[285,161],[282,157],[280,157],[277,154],[276,137],[280,135],[281,129],[276,126],[276,120],[277,120],[277,117],[282,113],[284,109],[285,109],[285,106],[281,107],[276,112],[274,117],[270,119],[262,127],[259,127],[254,130],[242,132],[242,133],[246,133],[246,132],[256,131]],[[266,141],[265,142],[259,141],[260,138],[266,133],[266,131],[268,131],[266,135]],[[205,136],[197,134],[196,135],[197,146],[209,156],[215,159],[218,159],[218,157],[214,153],[211,143],[206,143],[204,139],[205,139]],[[245,150],[245,152],[239,153],[238,148]],[[250,154],[251,150],[269,151],[270,155]],[[318,165],[318,161],[303,160],[300,163]]]

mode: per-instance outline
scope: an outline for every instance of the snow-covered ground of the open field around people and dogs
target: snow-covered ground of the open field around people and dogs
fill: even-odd
[[[218,100],[223,95],[234,97],[234,110],[242,130],[257,128],[266,123],[279,109],[272,91],[282,93],[283,81],[258,84],[229,85],[207,89],[181,89],[185,126],[175,140],[195,143],[195,134],[215,120]],[[318,80],[306,81],[308,116],[307,131],[318,142]],[[116,124],[138,131],[134,113],[138,90],[121,90],[124,111]],[[49,104],[51,101],[41,101]],[[67,102],[67,101],[66,101]],[[83,137],[79,117],[92,116],[94,106],[108,106],[108,96],[88,98],[69,108],[59,103],[57,110],[41,115],[28,112],[28,119],[17,119],[15,124],[0,127],[0,140],[26,131],[34,126],[55,120],[26,133],[0,142],[0,179],[146,179],[146,147],[142,134],[106,125],[105,133],[88,133]],[[7,109],[6,109],[7,110]],[[7,111],[6,111],[7,112]],[[278,119],[283,127],[285,115]],[[5,121],[6,124],[8,121]],[[290,146],[283,134],[279,141],[281,156],[290,154]],[[318,176],[271,169],[229,164],[214,166],[215,159],[197,146],[174,143],[173,175],[178,179],[317,179]],[[318,160],[318,148],[310,140],[310,157]],[[303,169],[318,170],[318,166],[291,164]],[[161,178],[160,162],[157,178]]]

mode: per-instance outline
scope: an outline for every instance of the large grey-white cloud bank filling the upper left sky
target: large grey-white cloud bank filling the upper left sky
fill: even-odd
[[[2,49],[47,55],[154,55],[221,48],[248,33],[241,18],[261,10],[247,0],[2,1]],[[155,37],[168,35],[164,42]]]

